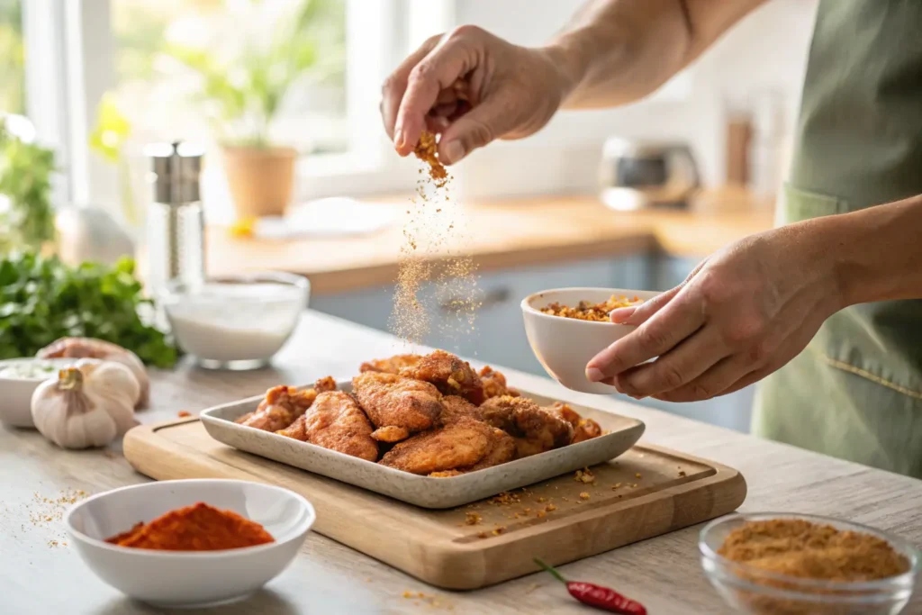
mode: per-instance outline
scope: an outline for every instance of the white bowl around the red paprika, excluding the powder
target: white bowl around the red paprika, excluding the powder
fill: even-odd
[[[169,551],[105,542],[136,523],[204,502],[266,528],[275,542],[243,549]],[[298,554],[313,526],[313,506],[297,493],[246,480],[164,480],[77,503],[65,525],[90,570],[129,597],[166,608],[227,604],[253,594]]]

